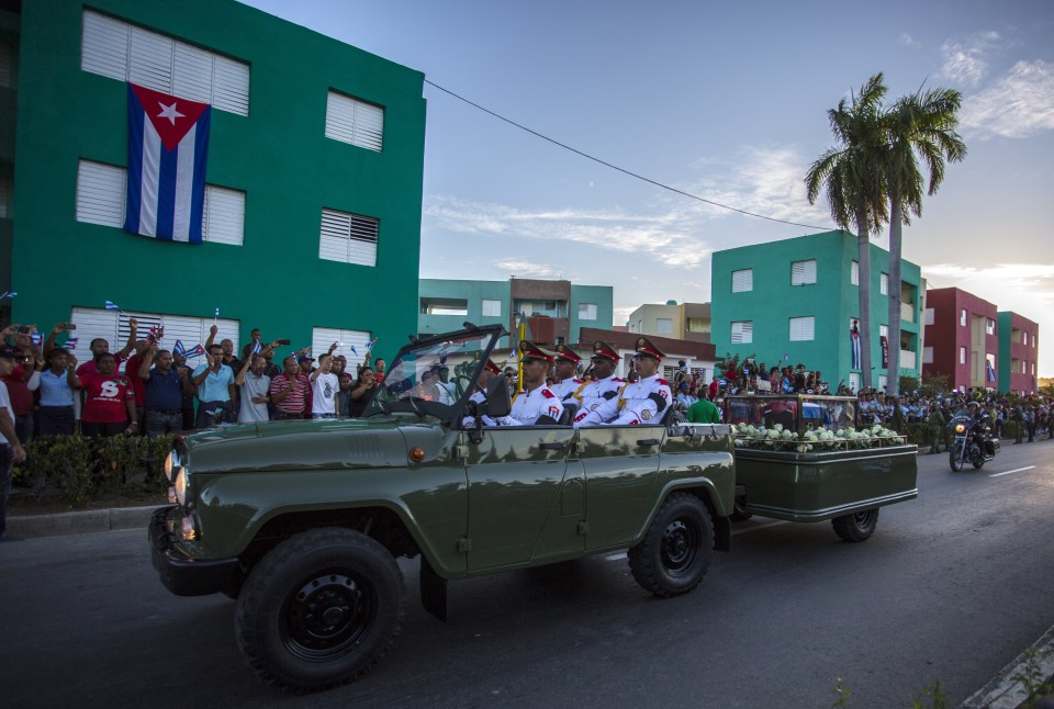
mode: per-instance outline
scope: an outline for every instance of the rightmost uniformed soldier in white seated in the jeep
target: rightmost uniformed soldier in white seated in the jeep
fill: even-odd
[[[670,384],[659,378],[659,364],[664,356],[647,337],[637,338],[636,349],[633,360],[640,379],[624,386],[617,397],[575,416],[575,428],[597,424],[635,426],[662,420],[673,402]]]

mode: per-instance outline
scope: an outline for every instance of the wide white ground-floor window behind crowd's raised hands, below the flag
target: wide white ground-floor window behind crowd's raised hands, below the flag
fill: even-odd
[[[134,317],[138,325],[137,335],[145,339],[150,333],[150,327],[165,327],[165,334],[161,338],[161,349],[171,349],[176,346],[176,340],[180,340],[184,349],[193,349],[197,345],[204,345],[209,339],[209,331],[213,325],[213,318],[188,317],[184,315],[169,315],[166,313],[144,313],[139,311],[108,311],[104,308],[75,307],[70,315],[70,322],[77,325],[72,333],[77,337],[77,348],[74,354],[81,363],[91,359],[91,341],[97,338],[106,340],[111,352],[120,352],[128,341],[128,318]],[[215,320],[218,331],[214,344],[218,345],[225,339],[234,341],[234,351],[238,351],[238,320],[218,319]],[[188,365],[193,368],[205,361],[203,357],[192,359]],[[123,365],[122,365],[123,367]]]

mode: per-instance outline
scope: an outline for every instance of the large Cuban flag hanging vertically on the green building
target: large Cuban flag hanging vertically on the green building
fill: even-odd
[[[128,83],[124,230],[201,244],[212,108]]]

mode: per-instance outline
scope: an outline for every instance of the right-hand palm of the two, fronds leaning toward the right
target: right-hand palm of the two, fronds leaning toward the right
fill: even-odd
[[[889,200],[889,368],[886,393],[896,394],[900,371],[900,247],[901,227],[911,224],[911,214],[922,215],[923,176],[921,159],[929,172],[927,194],[933,195],[944,181],[944,161],[966,157],[966,144],[955,133],[963,97],[954,89],[916,92],[897,101],[882,116],[886,143],[883,146],[883,177]]]

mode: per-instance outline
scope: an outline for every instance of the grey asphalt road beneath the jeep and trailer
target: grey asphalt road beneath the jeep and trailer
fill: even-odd
[[[909,707],[955,705],[1054,624],[1054,441],[982,472],[919,458],[920,497],[875,536],[754,518],[694,593],[658,600],[625,559],[451,584],[355,685],[287,697],[242,661],[234,604],[160,586],[143,531],[0,544],[0,704],[15,707]],[[1028,470],[1019,470],[1028,469]],[[1014,471],[1006,475],[995,473]]]

